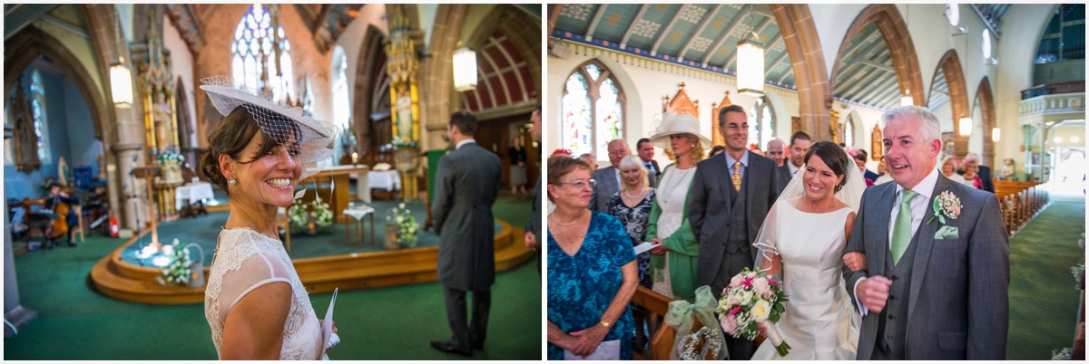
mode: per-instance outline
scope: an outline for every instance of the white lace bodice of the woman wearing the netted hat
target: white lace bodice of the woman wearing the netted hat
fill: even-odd
[[[321,327],[287,252],[279,240],[247,228],[224,229],[219,234],[219,250],[208,273],[205,318],[211,327],[217,354],[222,353],[223,323],[231,307],[246,293],[276,281],[291,285],[292,291],[280,359],[321,359]]]

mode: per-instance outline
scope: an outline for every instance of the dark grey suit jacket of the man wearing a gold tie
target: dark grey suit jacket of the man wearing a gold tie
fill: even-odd
[[[710,285],[719,273],[722,256],[730,236],[730,215],[733,208],[745,209],[748,215],[748,240],[751,243],[763,225],[763,218],[779,198],[779,174],[775,162],[767,156],[749,153],[748,167],[742,179],[742,193],[746,193],[744,206],[731,206],[730,166],[726,158],[715,155],[696,164],[696,175],[688,196],[688,224],[699,241],[699,259],[696,263],[696,281]],[[748,254],[756,260],[756,249]],[[721,294],[721,292],[715,292]]]

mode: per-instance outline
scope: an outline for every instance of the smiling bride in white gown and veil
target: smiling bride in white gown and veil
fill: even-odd
[[[843,283],[843,251],[866,189],[840,146],[819,141],[764,219],[757,265],[776,275],[790,301],[775,324],[783,357],[764,340],[752,360],[855,360],[859,317]]]

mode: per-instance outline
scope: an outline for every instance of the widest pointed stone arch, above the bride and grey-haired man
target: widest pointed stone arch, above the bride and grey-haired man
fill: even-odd
[[[843,59],[844,53],[849,48],[851,40],[870,23],[877,24],[881,36],[884,38],[885,46],[889,47],[889,51],[892,53],[893,67],[896,68],[896,83],[900,85],[901,93],[905,91],[909,92],[916,105],[925,106],[927,104],[927,93],[922,88],[922,71],[919,68],[919,58],[915,52],[915,42],[911,40],[911,34],[907,30],[907,24],[904,23],[904,18],[900,15],[900,10],[894,4],[872,4],[862,9],[862,12],[855,17],[854,23],[847,28],[847,34],[843,37],[843,41],[840,42],[840,50],[836,52],[831,79],[834,80],[839,76],[840,68],[843,66],[840,64],[840,60]],[[791,55],[793,60],[793,53]],[[831,96],[831,93],[829,95]]]

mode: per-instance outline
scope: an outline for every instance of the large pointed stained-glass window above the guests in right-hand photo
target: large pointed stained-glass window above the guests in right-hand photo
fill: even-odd
[[[609,160],[609,140],[624,137],[625,98],[612,73],[587,63],[567,77],[563,91],[560,142],[575,155]]]

